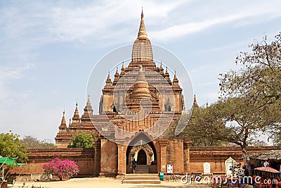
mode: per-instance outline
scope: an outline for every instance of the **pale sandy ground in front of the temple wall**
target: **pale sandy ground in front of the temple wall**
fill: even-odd
[[[23,182],[15,182],[13,187],[22,187]],[[25,187],[41,188],[119,188],[119,187],[132,187],[132,188],[146,188],[146,187],[209,187],[206,184],[183,184],[181,182],[165,182],[161,184],[122,184],[121,180],[108,177],[93,177],[93,178],[73,178],[67,181],[55,181],[55,182],[25,182]]]

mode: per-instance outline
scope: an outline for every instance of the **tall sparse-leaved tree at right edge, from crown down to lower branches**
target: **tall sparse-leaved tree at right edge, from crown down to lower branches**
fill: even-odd
[[[236,58],[240,69],[222,75],[221,97],[246,98],[263,118],[263,130],[272,130],[275,144],[281,144],[281,33],[272,42],[263,37],[249,48]]]

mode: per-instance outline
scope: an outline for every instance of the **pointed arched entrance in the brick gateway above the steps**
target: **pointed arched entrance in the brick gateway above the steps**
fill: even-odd
[[[137,168],[145,168],[146,166],[148,173],[157,173],[157,165],[155,163],[157,161],[157,153],[155,146],[144,133],[138,134],[126,150],[126,173],[133,173],[133,158],[138,162]],[[138,173],[137,171],[136,173]]]

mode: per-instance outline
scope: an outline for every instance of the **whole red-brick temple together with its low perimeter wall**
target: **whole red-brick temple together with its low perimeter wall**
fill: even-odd
[[[21,173],[24,181],[44,180],[42,165],[55,157],[76,161],[79,177],[132,173],[133,158],[141,167],[136,173],[166,173],[167,164],[174,165],[176,174],[204,173],[203,164],[207,162],[211,173],[225,175],[228,158],[239,161],[242,157],[240,147],[193,147],[190,142],[173,137],[178,117],[185,110],[182,92],[176,74],[170,76],[162,64],[157,67],[153,61],[142,13],[131,61],[126,68],[122,65],[120,73],[116,70],[114,79],[108,74],[99,114],[93,115],[90,97],[82,115],[76,104],[69,125],[63,113],[55,137],[58,148],[30,149],[27,165],[14,168],[11,175]],[[198,106],[196,99],[193,106]],[[72,136],[78,132],[96,135],[93,148],[67,148]],[[280,146],[256,146],[247,150],[260,153],[280,150]],[[152,161],[156,165],[150,165]]]

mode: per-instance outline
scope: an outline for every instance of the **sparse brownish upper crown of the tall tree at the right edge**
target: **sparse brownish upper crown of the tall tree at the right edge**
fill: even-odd
[[[226,96],[247,96],[261,104],[273,104],[280,99],[281,91],[281,33],[275,41],[251,44],[251,53],[240,52],[235,63],[239,71],[223,75],[221,91]]]

